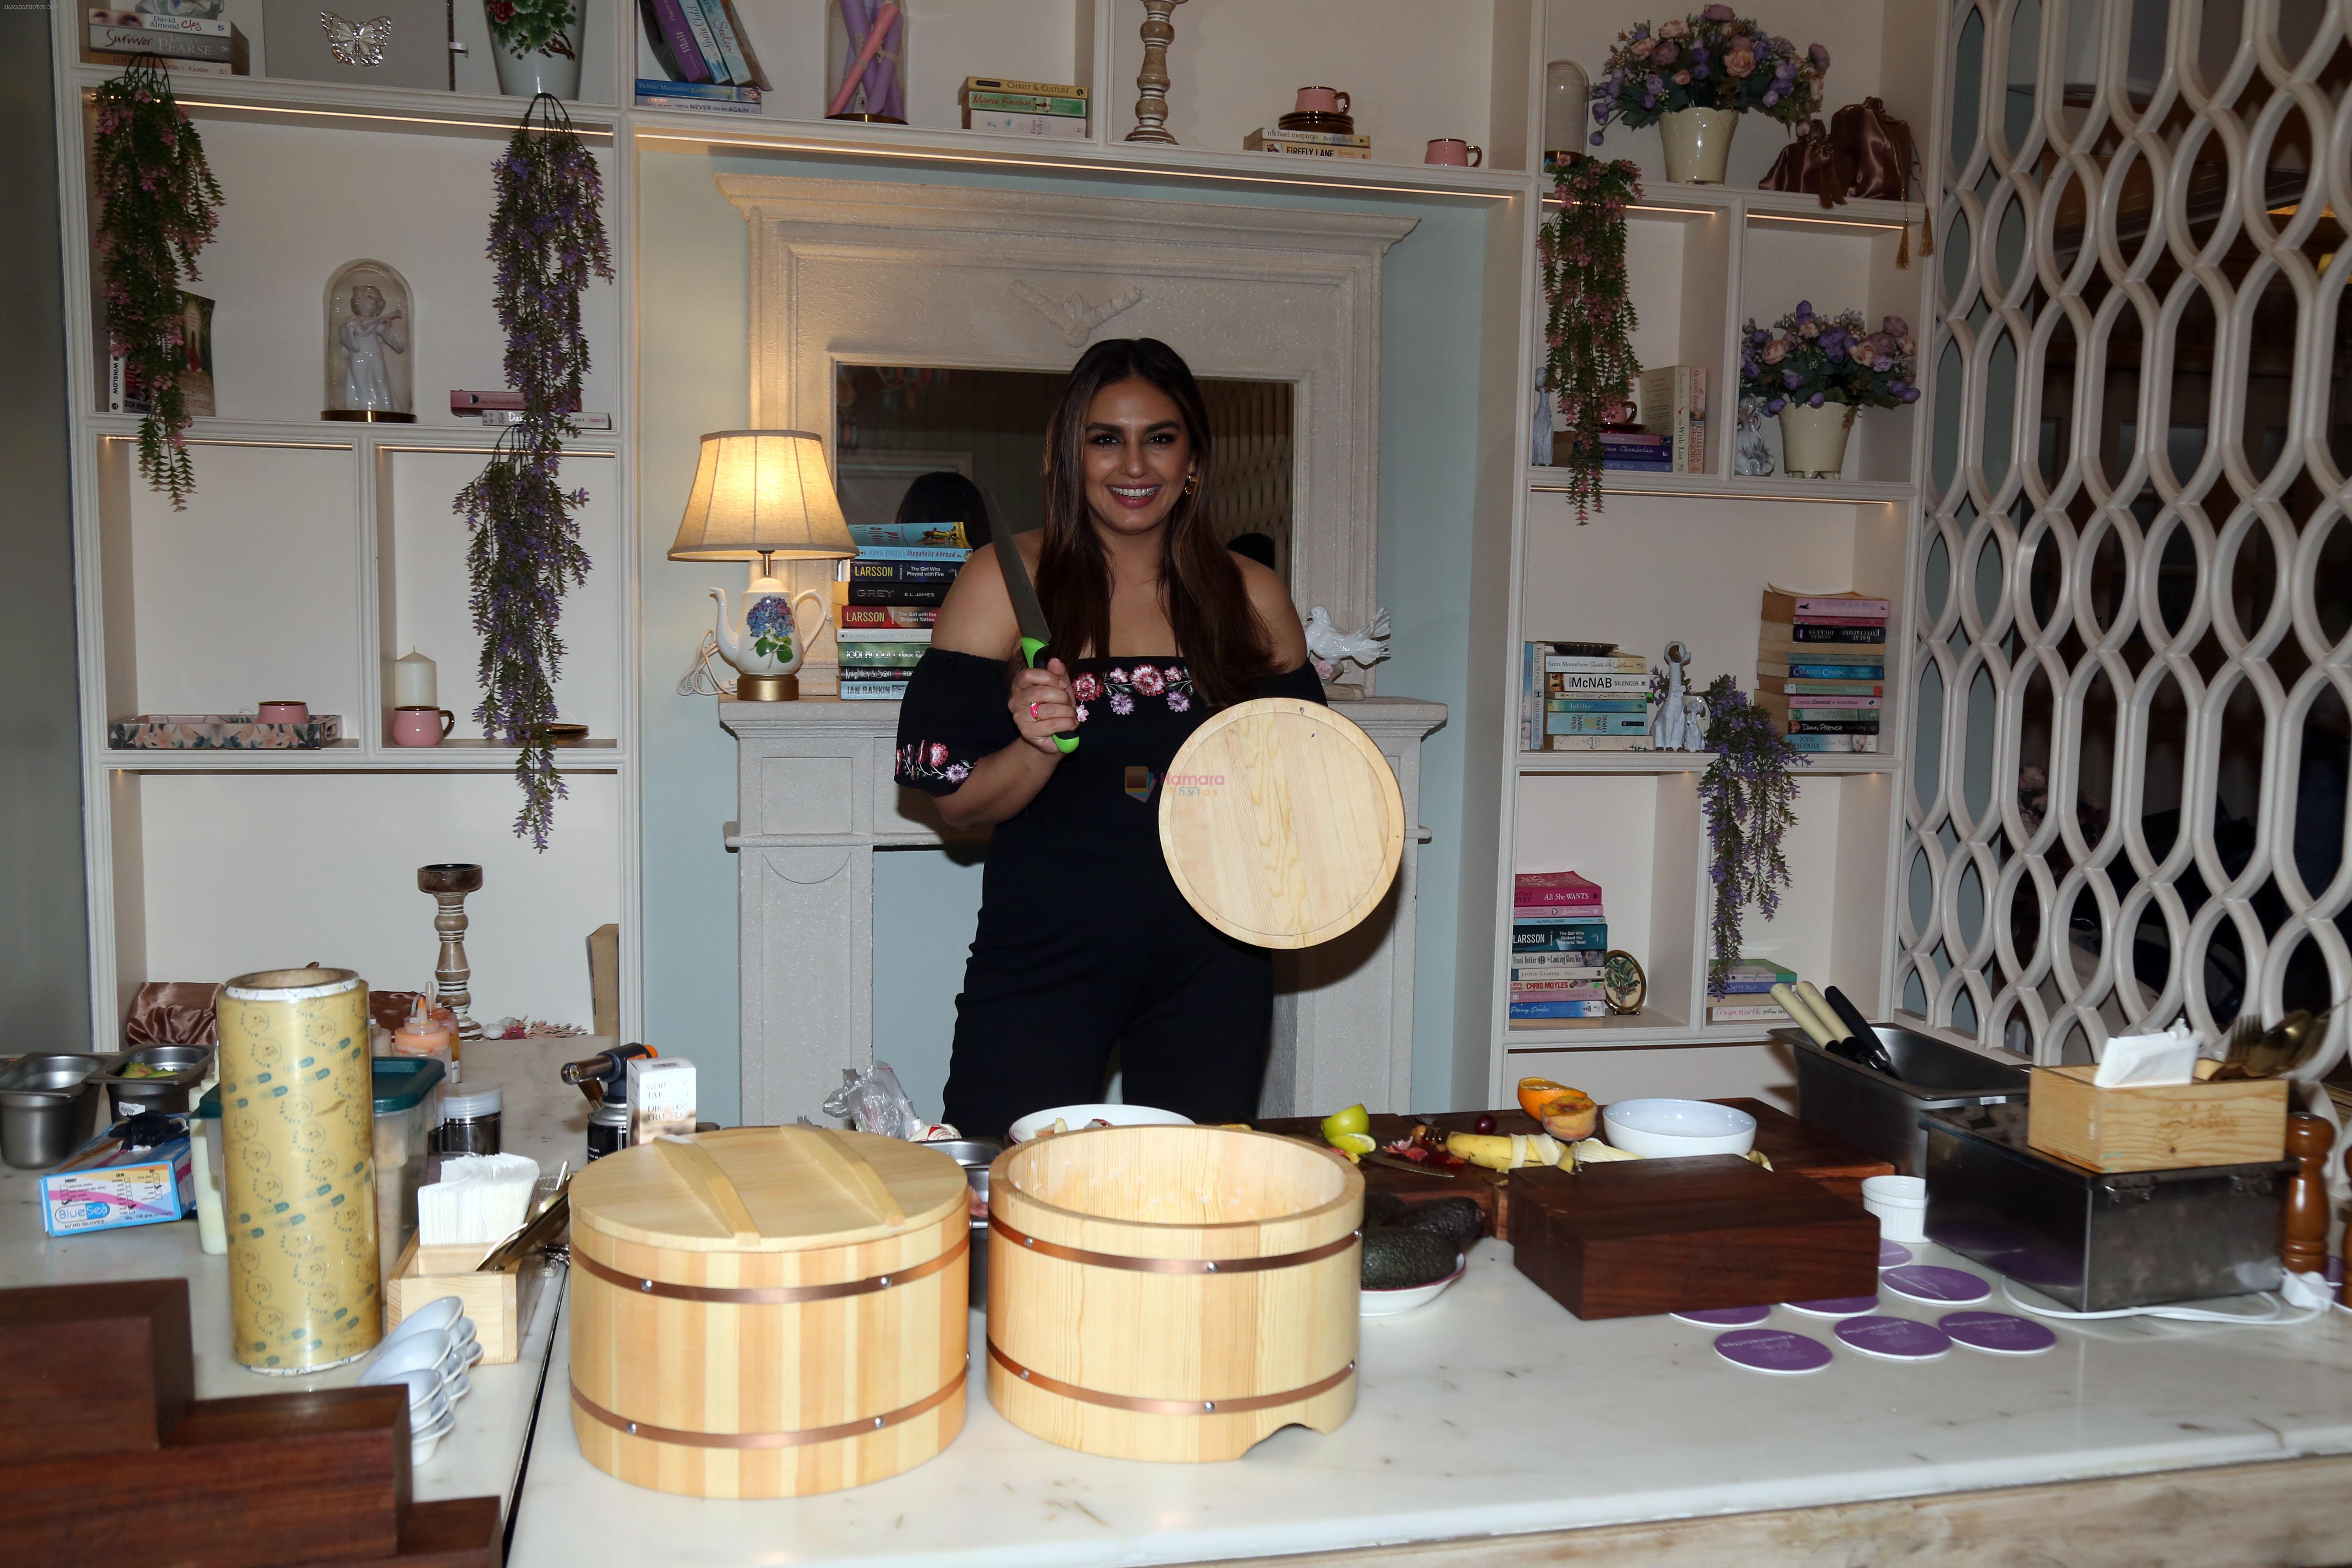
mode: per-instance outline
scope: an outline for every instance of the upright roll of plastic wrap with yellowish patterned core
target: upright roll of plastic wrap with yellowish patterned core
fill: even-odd
[[[270,969],[230,980],[216,1009],[235,1359],[341,1366],[383,1338],[367,983]]]

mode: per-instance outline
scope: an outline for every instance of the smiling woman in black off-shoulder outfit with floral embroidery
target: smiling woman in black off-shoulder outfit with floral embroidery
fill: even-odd
[[[1322,701],[1322,684],[1282,581],[1218,543],[1209,418],[1174,348],[1087,350],[1044,447],[1044,527],[1014,548],[1063,656],[1018,668],[1004,567],[976,552],[898,722],[898,783],[936,795],[957,827],[997,830],[946,1117],[1000,1135],[1033,1110],[1098,1100],[1117,1046],[1129,1100],[1242,1121],[1265,1070],[1272,959],[1176,891],[1157,795],[1211,712]],[[1063,731],[1084,743],[1065,755]]]

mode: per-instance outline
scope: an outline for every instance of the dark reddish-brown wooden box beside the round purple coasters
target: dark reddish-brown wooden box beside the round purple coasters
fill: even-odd
[[[1738,1154],[1510,1173],[1512,1258],[1581,1319],[1872,1295],[1879,1222]]]

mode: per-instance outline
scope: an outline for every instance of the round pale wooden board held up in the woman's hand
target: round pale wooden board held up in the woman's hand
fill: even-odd
[[[1225,936],[1312,947],[1352,931],[1397,879],[1404,795],[1371,736],[1322,703],[1237,703],[1160,780],[1160,851]]]

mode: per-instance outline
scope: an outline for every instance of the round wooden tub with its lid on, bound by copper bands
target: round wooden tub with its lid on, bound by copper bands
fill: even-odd
[[[967,1192],[936,1150],[809,1126],[581,1171],[581,1453],[689,1497],[800,1497],[929,1460],[964,1425]]]

